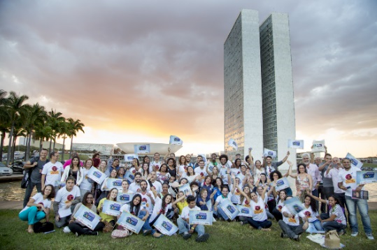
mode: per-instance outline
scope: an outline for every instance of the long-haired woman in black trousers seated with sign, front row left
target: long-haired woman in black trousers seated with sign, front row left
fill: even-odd
[[[74,233],[77,237],[80,235],[98,235],[98,231],[101,231],[105,227],[105,224],[102,221],[99,221],[94,230],[91,230],[83,223],[80,223],[80,221],[75,221],[74,216],[82,205],[91,209],[94,214],[97,214],[97,207],[93,205],[93,199],[94,196],[92,195],[92,193],[85,193],[83,196],[83,201],[81,203],[78,203],[78,205],[76,205],[75,209],[73,210],[68,227],[69,230],[71,230],[71,232]]]

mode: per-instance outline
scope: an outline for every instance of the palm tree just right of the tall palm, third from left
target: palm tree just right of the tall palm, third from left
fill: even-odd
[[[45,107],[36,103],[30,108],[27,109],[27,117],[25,119],[25,129],[27,130],[27,148],[25,153],[25,161],[29,161],[30,154],[30,144],[31,144],[31,135],[34,131],[34,128],[43,122],[47,118],[47,113],[45,112]]]

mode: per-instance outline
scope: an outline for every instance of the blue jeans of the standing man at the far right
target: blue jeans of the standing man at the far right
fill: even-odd
[[[359,199],[353,200],[350,196],[346,196],[346,204],[348,209],[348,216],[350,219],[350,226],[353,232],[358,232],[359,228],[357,225],[356,211],[359,208],[360,216],[362,217],[362,225],[364,226],[364,231],[366,234],[372,233],[371,229],[371,219],[368,214],[368,203],[367,200]]]

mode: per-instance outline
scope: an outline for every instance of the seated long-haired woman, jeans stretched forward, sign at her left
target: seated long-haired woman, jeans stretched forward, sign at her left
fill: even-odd
[[[125,204],[120,208],[120,211],[129,212],[130,214],[134,214],[134,216],[138,216],[139,219],[142,219],[144,222],[143,224],[143,235],[152,235],[155,238],[160,238],[164,235],[161,233],[157,233],[156,230],[152,229],[149,225],[149,212],[147,209],[141,207],[141,195],[136,193],[134,198],[132,198],[131,203]],[[119,216],[120,217],[120,216]]]

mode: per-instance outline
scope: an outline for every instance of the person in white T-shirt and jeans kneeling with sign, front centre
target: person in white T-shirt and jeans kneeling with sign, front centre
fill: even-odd
[[[189,221],[190,210],[201,211],[199,207],[195,204],[194,196],[187,196],[188,206],[183,208],[182,214],[177,220],[179,233],[183,235],[184,240],[188,240],[191,235],[196,231],[198,233],[197,242],[206,242],[209,238],[208,233],[205,233],[204,226],[198,224],[191,224]]]

